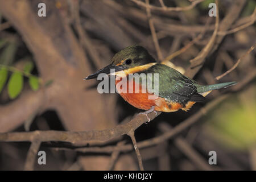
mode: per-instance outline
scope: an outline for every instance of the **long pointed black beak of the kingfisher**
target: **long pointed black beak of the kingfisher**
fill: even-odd
[[[113,69],[113,71],[112,71]],[[105,68],[102,68],[100,70],[98,70],[97,72],[89,75],[88,77],[84,78],[84,80],[90,80],[90,79],[93,79],[93,78],[97,78],[98,75],[100,75],[101,73],[105,73],[107,75],[109,75],[110,73],[114,73],[114,72],[118,72],[118,71],[122,71],[123,69],[126,69],[125,66],[123,65],[113,65],[113,64],[110,64],[108,66],[106,66]]]

